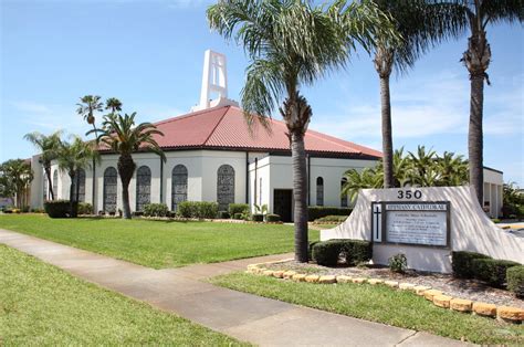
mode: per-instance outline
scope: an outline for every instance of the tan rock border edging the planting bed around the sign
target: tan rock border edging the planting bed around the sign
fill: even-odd
[[[386,285],[392,290],[406,291],[423,296],[433,305],[461,313],[472,313],[474,315],[499,318],[500,320],[522,324],[524,320],[524,309],[520,307],[496,306],[494,304],[473,302],[470,299],[446,295],[441,291],[433,290],[425,285],[415,285],[412,283],[398,283],[397,281],[385,281],[382,278],[353,277],[347,275],[316,275],[297,273],[296,271],[268,270],[264,265],[279,264],[290,261],[289,259],[275,262],[248,265],[248,273],[265,275],[276,278],[290,280],[294,282],[307,282],[317,284],[336,283],[368,283],[370,285]]]

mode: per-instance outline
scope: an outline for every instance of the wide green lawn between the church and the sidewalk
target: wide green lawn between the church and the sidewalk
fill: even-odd
[[[279,224],[3,214],[0,228],[155,269],[293,251],[293,228]],[[310,238],[318,240],[318,231],[312,230]]]

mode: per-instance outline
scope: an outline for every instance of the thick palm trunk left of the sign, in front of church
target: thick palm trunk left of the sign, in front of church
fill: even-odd
[[[291,134],[291,155],[293,164],[293,198],[295,224],[295,260],[301,263],[307,256],[307,170],[304,135],[301,132]]]

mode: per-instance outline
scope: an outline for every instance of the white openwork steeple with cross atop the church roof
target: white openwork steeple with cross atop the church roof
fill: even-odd
[[[212,93],[217,94],[217,97],[211,101]],[[191,111],[227,105],[238,106],[239,104],[228,98],[228,65],[226,55],[207,50],[203,54],[200,103],[191,107]]]

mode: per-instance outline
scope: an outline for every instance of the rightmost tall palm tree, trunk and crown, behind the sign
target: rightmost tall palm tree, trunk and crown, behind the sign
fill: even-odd
[[[491,49],[488,43],[486,28],[491,24],[515,23],[524,20],[523,0],[447,0],[437,1],[454,6],[457,18],[468,22],[470,38],[468,50],[461,61],[470,74],[470,124],[468,133],[468,156],[470,186],[483,206],[484,165],[483,165],[483,107],[484,81],[490,85],[488,67],[491,63]]]

